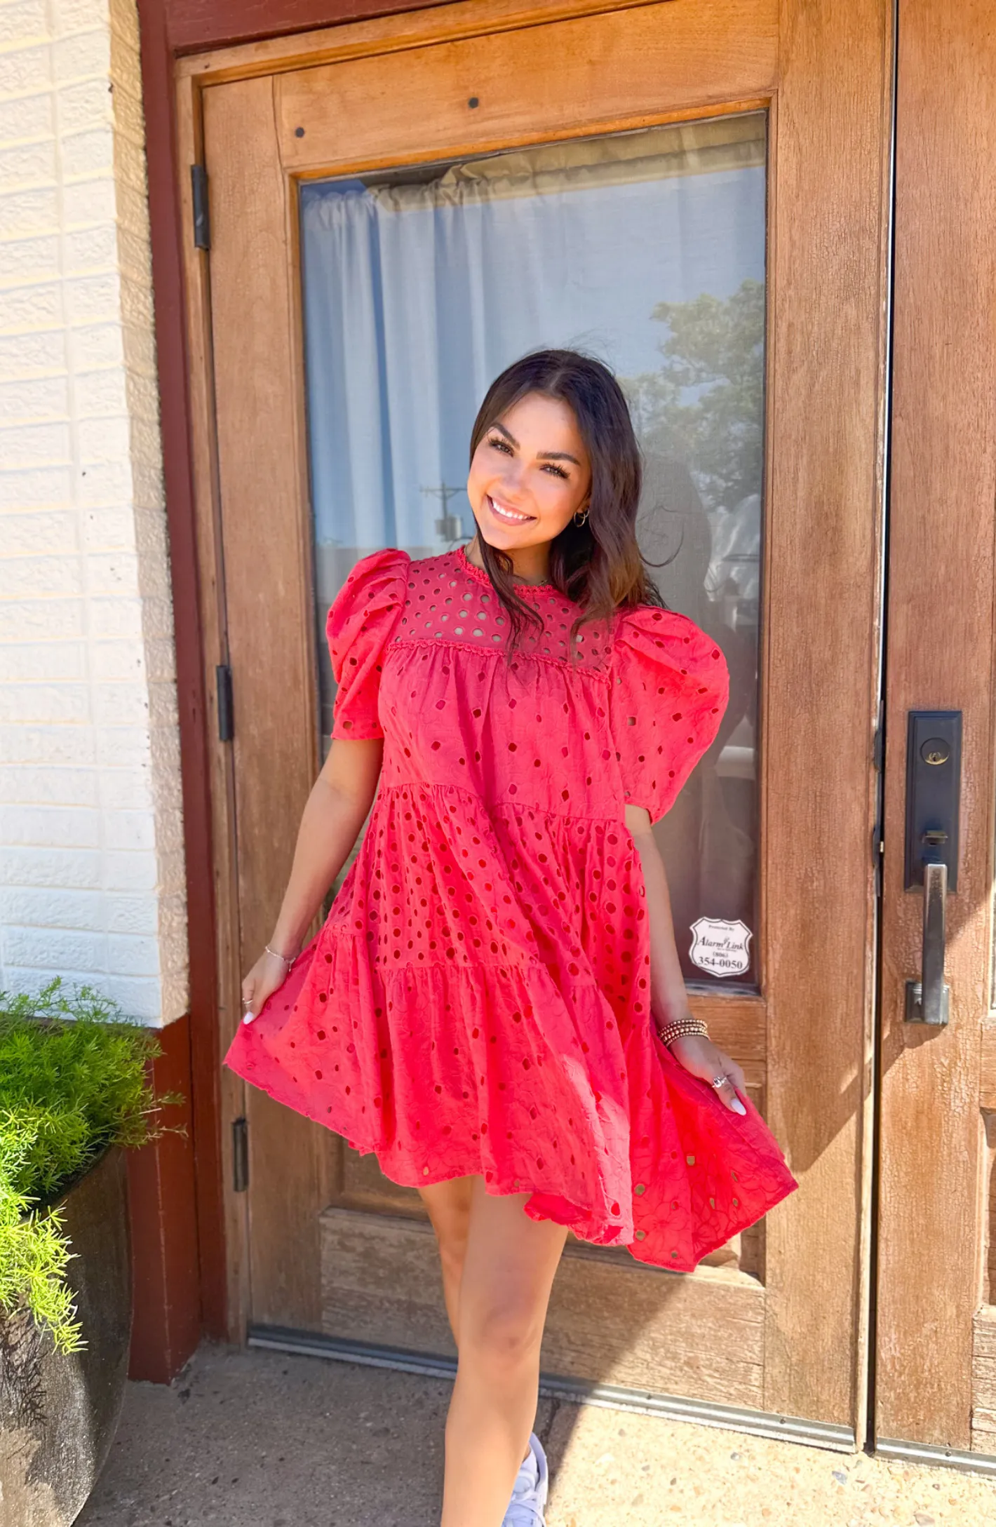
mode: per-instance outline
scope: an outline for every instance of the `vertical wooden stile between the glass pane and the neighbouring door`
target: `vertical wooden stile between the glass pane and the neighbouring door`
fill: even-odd
[[[765,1409],[851,1422],[859,1435],[889,44],[877,0],[782,6],[770,220],[767,1098],[804,1191],[767,1225]]]

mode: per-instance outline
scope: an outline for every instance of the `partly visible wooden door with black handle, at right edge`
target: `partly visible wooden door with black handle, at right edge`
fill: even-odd
[[[875,1438],[996,1472],[993,557],[996,32],[900,6]],[[906,1022],[907,713],[962,716],[947,1025]],[[988,1455],[988,1458],[982,1457]]]

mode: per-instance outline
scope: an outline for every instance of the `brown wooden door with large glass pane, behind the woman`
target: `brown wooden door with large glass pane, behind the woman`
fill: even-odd
[[[764,115],[756,980],[695,1006],[802,1186],[689,1277],[571,1245],[544,1368],[840,1448],[866,1406],[889,26],[880,0],[486,0],[186,60],[179,79],[209,179],[211,249],[188,253],[206,664],[234,684],[214,747],[223,1044],[318,765],[301,185]],[[229,1240],[257,1338],[451,1351],[412,1196],[223,1086],[249,1130]]]

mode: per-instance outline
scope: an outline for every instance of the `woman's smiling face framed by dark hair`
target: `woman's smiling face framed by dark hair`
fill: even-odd
[[[501,551],[553,541],[590,490],[591,463],[573,411],[539,392],[486,431],[467,478],[481,534]]]

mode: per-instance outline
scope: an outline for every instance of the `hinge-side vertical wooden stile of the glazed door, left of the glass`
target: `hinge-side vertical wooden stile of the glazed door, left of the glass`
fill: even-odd
[[[289,195],[272,134],[244,130],[269,102],[267,79],[208,92],[205,101],[208,157],[226,166],[211,197],[211,307],[228,658],[237,675],[241,971],[270,936],[318,768]],[[255,1087],[246,1089],[246,1118],[252,1318],[315,1322],[318,1214],[338,1186],[339,1141]]]

